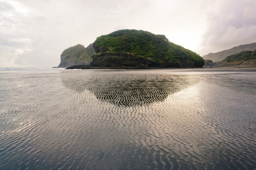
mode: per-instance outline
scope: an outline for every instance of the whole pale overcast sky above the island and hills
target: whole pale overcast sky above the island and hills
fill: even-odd
[[[0,0],[0,67],[54,67],[119,29],[164,34],[203,56],[256,42],[256,0]]]

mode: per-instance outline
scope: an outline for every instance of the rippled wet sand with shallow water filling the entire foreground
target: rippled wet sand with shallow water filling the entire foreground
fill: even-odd
[[[256,70],[0,71],[0,169],[256,169]]]

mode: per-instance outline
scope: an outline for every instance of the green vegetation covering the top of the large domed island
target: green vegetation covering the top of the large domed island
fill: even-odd
[[[102,35],[94,42],[96,52],[106,55],[130,54],[168,67],[202,67],[204,59],[193,51],[176,45],[165,37],[142,30],[119,30]],[[111,54],[108,54],[111,53]],[[99,56],[99,55],[98,55]],[[102,55],[101,55],[102,57]]]

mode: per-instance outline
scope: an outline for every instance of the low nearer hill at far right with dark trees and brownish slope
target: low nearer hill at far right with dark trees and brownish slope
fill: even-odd
[[[206,60],[204,67],[256,67],[256,50],[227,56],[223,61]]]

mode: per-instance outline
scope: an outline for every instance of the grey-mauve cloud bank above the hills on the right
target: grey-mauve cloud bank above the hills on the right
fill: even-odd
[[[202,36],[200,54],[218,52],[256,42],[256,1],[219,0],[207,13],[207,29]]]

